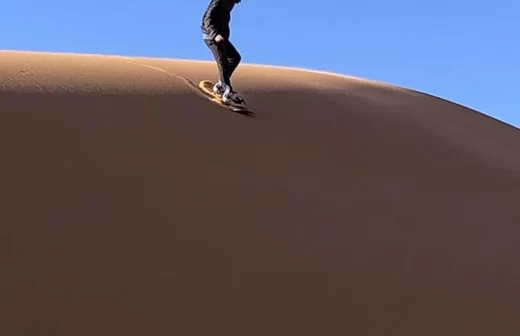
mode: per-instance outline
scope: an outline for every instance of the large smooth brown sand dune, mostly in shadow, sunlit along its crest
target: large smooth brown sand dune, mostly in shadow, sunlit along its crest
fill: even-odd
[[[0,53],[0,334],[513,335],[520,132],[356,78]]]

